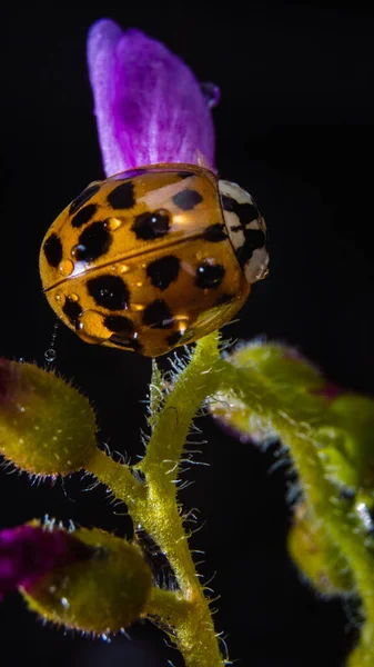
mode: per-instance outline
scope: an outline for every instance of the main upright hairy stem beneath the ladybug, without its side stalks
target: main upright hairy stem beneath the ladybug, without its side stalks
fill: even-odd
[[[148,499],[139,516],[174,571],[191,609],[175,627],[176,645],[186,667],[222,667],[214,625],[204,596],[176,501],[180,461],[191,422],[204,399],[218,388],[218,335],[199,341],[194,355],[169,395],[146,455],[138,468],[145,475]]]

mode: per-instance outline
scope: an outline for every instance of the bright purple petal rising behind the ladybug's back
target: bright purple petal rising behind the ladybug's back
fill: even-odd
[[[88,63],[107,176],[158,162],[214,168],[212,104],[180,58],[103,19],[90,30]]]

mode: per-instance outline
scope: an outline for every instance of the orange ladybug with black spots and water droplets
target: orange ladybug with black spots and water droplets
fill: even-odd
[[[251,196],[203,167],[94,181],[43,239],[47,299],[87,342],[158,357],[229,322],[267,273]]]

